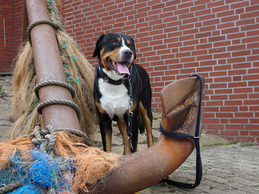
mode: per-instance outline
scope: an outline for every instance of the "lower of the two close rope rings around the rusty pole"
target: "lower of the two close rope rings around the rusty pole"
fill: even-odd
[[[45,107],[45,106],[49,106],[49,105],[53,105],[53,104],[63,104],[63,105],[68,105],[70,107],[72,107],[76,114],[77,114],[77,117],[78,117],[78,120],[80,121],[81,119],[81,111],[80,111],[80,108],[77,106],[76,103],[70,101],[70,100],[64,100],[64,99],[50,99],[50,100],[46,100],[46,101],[43,101],[41,103],[38,104],[38,106],[36,107],[37,108],[37,112],[39,114],[41,114],[41,110]]]

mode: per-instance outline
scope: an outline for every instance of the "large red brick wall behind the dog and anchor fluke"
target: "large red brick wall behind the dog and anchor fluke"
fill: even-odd
[[[259,143],[258,0],[65,0],[66,29],[88,61],[102,33],[135,39],[148,71],[152,107],[160,90],[198,73],[206,78],[204,129]]]

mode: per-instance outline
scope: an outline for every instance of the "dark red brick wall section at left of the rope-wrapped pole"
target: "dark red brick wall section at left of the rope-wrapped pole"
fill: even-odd
[[[20,44],[22,1],[0,0],[0,74],[10,73]],[[5,48],[4,28],[5,22]]]

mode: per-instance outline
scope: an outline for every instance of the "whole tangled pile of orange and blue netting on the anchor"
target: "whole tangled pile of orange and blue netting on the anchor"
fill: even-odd
[[[0,193],[1,187],[17,182],[17,189],[8,194],[94,193],[119,167],[118,154],[75,146],[71,134],[56,133],[53,157],[34,146],[32,137],[0,143]]]

